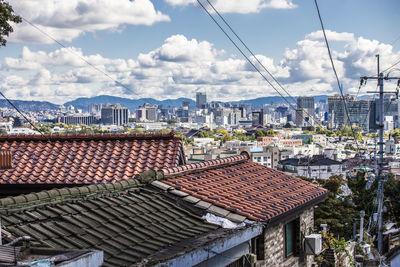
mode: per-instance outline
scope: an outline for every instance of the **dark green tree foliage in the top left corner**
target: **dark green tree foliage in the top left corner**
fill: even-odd
[[[5,37],[8,37],[14,29],[11,27],[10,22],[20,23],[22,22],[22,18],[20,16],[15,15],[12,6],[0,0],[0,45],[5,46],[7,40]]]

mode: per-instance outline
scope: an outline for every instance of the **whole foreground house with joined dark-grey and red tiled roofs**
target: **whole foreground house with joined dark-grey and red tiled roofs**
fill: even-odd
[[[305,236],[326,196],[244,153],[3,198],[0,215],[4,239],[102,250],[104,266],[311,266]]]

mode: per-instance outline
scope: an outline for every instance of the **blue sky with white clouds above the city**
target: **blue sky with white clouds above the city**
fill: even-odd
[[[210,2],[291,96],[339,93],[313,0]],[[275,89],[264,80],[197,0],[9,3],[24,18],[0,48],[0,90],[10,99],[194,99],[201,91],[209,100],[234,101],[278,95],[276,90],[287,96],[244,50]],[[201,3],[212,11],[207,0]],[[381,71],[400,76],[400,63],[386,70],[400,61],[400,1],[318,5],[345,93],[357,93],[360,76],[376,75],[376,54]],[[360,94],[375,89],[371,80]]]

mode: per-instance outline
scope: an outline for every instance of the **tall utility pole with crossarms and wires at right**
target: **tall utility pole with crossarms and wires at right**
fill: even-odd
[[[377,76],[376,77],[361,77],[361,79],[367,80],[367,79],[374,79],[378,81],[378,86],[379,86],[379,158],[378,158],[378,250],[379,254],[382,255],[382,240],[383,240],[383,185],[384,185],[384,174],[383,174],[383,128],[384,128],[384,123],[383,123],[383,116],[384,116],[384,109],[383,109],[383,95],[385,93],[395,93],[395,92],[384,92],[383,91],[383,81],[384,80],[399,80],[399,77],[389,77],[383,76],[383,73],[380,73],[379,71],[379,55],[376,55],[377,57]],[[372,92],[376,93],[376,92]],[[375,155],[376,157],[376,155]]]

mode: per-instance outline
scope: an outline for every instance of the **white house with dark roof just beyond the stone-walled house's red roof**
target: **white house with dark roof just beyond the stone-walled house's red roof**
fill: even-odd
[[[314,179],[329,179],[332,175],[343,175],[343,164],[323,155],[305,158],[290,158],[278,163],[279,170]]]

